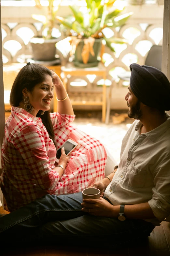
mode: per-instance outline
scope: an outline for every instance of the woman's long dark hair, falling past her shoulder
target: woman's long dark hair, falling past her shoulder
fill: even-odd
[[[22,90],[26,88],[28,92],[32,92],[35,85],[43,82],[47,75],[52,78],[50,69],[42,65],[33,63],[24,66],[18,73],[12,85],[10,93],[10,105],[18,107],[20,102],[23,100]],[[42,123],[49,133],[49,137],[55,145],[54,130],[50,119],[50,111],[45,111],[44,115],[37,113],[36,117],[41,117]]]

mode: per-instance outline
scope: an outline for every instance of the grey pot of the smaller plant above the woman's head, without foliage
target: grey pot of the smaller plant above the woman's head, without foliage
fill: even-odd
[[[55,44],[59,41],[58,38],[44,40],[42,37],[33,37],[30,40],[32,48],[33,60],[51,61],[55,60],[56,47]]]

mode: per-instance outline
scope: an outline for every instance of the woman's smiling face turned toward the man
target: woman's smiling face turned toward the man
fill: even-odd
[[[37,114],[39,110],[50,110],[50,101],[54,97],[52,93],[53,88],[54,86],[52,78],[50,77],[50,75],[47,75],[43,82],[35,85],[32,92],[27,93],[29,101],[31,105],[34,107],[33,115],[35,115],[35,112]]]

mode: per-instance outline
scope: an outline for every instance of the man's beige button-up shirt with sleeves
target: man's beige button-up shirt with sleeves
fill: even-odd
[[[141,133],[135,120],[122,141],[120,163],[105,196],[113,205],[148,202],[158,226],[170,215],[170,116],[159,127]]]

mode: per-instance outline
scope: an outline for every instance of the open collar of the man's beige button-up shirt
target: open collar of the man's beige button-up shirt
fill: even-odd
[[[166,130],[170,128],[170,116],[166,114],[167,120],[157,128],[144,133],[145,136],[149,138],[151,141],[155,141],[159,136],[161,136]],[[139,121],[137,125],[135,126],[136,131],[140,131],[140,127],[142,126],[142,123]]]

